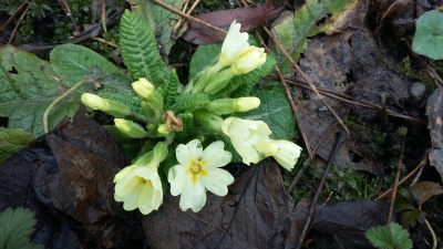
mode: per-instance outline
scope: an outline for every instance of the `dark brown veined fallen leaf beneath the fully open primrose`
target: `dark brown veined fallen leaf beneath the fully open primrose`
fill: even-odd
[[[179,197],[166,194],[158,211],[143,220],[150,247],[239,249],[290,243],[297,217],[276,163],[267,159],[251,166],[229,189],[225,197],[209,194],[199,212],[183,212]]]

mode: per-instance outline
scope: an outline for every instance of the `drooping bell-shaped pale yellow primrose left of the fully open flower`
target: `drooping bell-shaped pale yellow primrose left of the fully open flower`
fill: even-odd
[[[147,215],[162,204],[162,181],[156,167],[127,166],[115,175],[114,183],[114,199],[123,201],[125,210],[138,208],[143,215]]]

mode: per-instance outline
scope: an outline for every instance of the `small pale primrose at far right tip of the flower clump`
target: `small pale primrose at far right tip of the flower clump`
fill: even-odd
[[[300,157],[301,147],[289,141],[274,141],[275,144],[280,148],[274,158],[284,168],[292,170],[296,166],[298,158]]]

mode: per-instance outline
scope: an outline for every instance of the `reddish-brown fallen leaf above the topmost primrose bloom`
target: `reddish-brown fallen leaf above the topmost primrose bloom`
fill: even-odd
[[[238,23],[241,23],[240,31],[248,32],[255,27],[262,24],[265,21],[277,18],[282,9],[284,7],[281,4],[265,2],[245,8],[203,13],[195,18],[226,31],[229,29],[230,23],[236,20]],[[182,38],[194,44],[207,44],[223,41],[225,34],[217,33],[202,24],[190,21],[188,23],[188,29]]]

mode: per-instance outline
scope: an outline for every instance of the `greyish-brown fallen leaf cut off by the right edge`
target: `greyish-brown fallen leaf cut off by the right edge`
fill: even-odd
[[[439,87],[427,98],[427,128],[431,132],[432,148],[429,151],[430,164],[443,179],[443,89]]]

